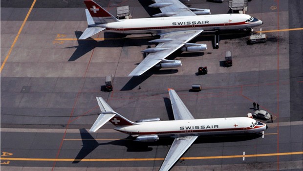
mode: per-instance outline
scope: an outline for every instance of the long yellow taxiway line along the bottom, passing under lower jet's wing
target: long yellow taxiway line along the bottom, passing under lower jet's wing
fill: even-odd
[[[303,154],[303,151],[298,152],[281,152],[281,153],[267,153],[267,154],[247,154],[247,155],[225,155],[225,156],[205,156],[205,157],[181,157],[181,160],[201,160],[201,159],[223,159],[223,158],[242,158],[242,157],[268,157],[281,155],[298,155]],[[8,161],[48,161],[48,162],[117,162],[117,161],[155,161],[164,160],[164,158],[113,158],[113,159],[71,159],[71,158],[11,158],[1,157],[1,160]]]

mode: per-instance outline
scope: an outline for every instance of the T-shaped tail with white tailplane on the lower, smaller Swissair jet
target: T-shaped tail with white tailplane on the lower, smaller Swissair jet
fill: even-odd
[[[97,131],[108,121],[117,127],[135,125],[134,122],[131,122],[124,116],[113,111],[113,109],[105,102],[105,100],[102,97],[96,97],[96,99],[98,101],[98,105],[102,113],[98,116],[92,127],[89,129],[90,132]]]

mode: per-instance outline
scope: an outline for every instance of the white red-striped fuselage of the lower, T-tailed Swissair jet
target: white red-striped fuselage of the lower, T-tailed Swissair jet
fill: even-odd
[[[265,130],[266,125],[249,117],[234,117],[144,122],[114,129],[132,136],[151,134],[158,136],[218,135],[258,133]]]

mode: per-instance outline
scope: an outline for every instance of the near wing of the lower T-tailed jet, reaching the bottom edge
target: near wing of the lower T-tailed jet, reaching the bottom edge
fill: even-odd
[[[173,164],[183,155],[183,153],[191,147],[198,136],[178,137],[173,140],[173,144],[166,154],[159,171],[168,171]]]

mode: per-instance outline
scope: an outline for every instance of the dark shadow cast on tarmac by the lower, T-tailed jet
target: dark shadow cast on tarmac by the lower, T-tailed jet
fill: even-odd
[[[110,141],[107,143],[98,143],[86,129],[80,129],[80,134],[83,142],[82,149],[79,151],[72,163],[77,164],[81,162],[90,152],[95,150],[98,146],[116,145],[125,146],[129,152],[145,152],[151,151],[151,146],[171,146],[173,138],[160,138],[156,142],[136,142],[133,137],[129,136],[125,139]],[[243,135],[223,135],[223,136],[199,136],[194,144],[203,143],[225,143],[253,140],[261,137],[261,134],[243,134]]]

